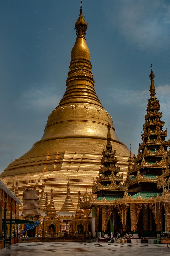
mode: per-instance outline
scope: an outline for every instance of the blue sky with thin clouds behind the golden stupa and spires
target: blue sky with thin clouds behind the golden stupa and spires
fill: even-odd
[[[170,2],[83,0],[82,8],[95,90],[119,140],[137,154],[151,63],[168,139]],[[41,139],[65,92],[79,10],[79,0],[1,1],[0,171]]]

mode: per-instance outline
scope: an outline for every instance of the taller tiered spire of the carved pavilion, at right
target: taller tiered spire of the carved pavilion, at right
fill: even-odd
[[[138,155],[134,158],[132,169],[128,169],[129,192],[149,192],[157,190],[157,179],[161,179],[166,170],[168,141],[165,140],[167,130],[163,130],[165,122],[161,120],[159,100],[155,97],[154,78],[152,71],[150,98],[148,99],[143,125],[142,143],[139,144]],[[152,183],[152,186],[150,185]],[[140,184],[140,185],[139,185]]]

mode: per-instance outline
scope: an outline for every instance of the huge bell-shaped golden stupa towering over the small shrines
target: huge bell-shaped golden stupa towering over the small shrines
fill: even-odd
[[[107,125],[111,125],[112,147],[116,150],[121,172],[128,169],[129,150],[119,141],[112,118],[103,108],[94,90],[90,51],[86,44],[87,23],[82,8],[75,23],[76,42],[71,51],[66,91],[59,105],[48,117],[40,141],[1,173],[12,189],[18,182],[22,201],[23,188],[35,187],[41,194],[42,184],[50,198],[53,187],[54,204],[59,211],[66,198],[67,181],[76,207],[77,193],[91,189],[98,175],[102,151],[107,142]]]

